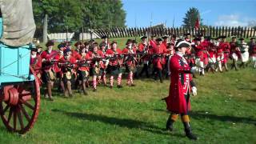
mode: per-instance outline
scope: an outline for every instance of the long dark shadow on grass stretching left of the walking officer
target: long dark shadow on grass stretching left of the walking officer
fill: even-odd
[[[149,131],[154,134],[169,134],[165,129],[161,129],[158,126],[151,125],[147,122],[142,122],[133,119],[126,118],[113,118],[105,115],[98,114],[86,114],[86,113],[78,113],[78,112],[68,112],[65,110],[53,109],[53,112],[66,114],[72,118],[80,118],[84,120],[89,120],[91,122],[99,121],[110,125],[118,125],[121,127],[126,127],[129,129],[140,129],[144,131]]]

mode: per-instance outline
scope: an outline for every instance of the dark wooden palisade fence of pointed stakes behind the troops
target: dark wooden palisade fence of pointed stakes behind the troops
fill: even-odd
[[[139,37],[142,35],[172,35],[176,34],[178,37],[190,33],[193,37],[196,34],[203,34],[204,36],[218,37],[225,35],[226,37],[237,36],[238,38],[250,38],[255,36],[255,29],[252,27],[230,27],[230,26],[208,26],[199,29],[195,28],[161,28],[161,27],[140,27],[140,28],[124,28],[115,27],[107,30],[94,29],[94,34],[98,37],[108,36],[109,38],[125,38],[125,37]]]

